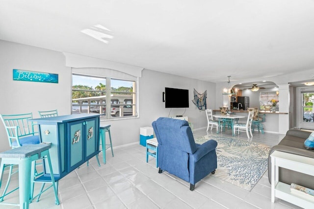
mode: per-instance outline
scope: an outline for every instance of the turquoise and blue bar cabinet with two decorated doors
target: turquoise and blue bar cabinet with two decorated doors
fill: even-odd
[[[78,114],[31,119],[38,124],[40,141],[52,144],[49,152],[56,180],[99,153],[100,116]],[[50,178],[48,166],[44,175]]]

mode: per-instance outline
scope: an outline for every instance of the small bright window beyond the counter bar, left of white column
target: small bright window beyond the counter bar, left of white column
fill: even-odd
[[[260,109],[270,111],[272,107],[276,107],[276,111],[279,111],[279,92],[261,92]]]

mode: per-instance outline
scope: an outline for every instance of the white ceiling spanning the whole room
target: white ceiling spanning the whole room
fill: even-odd
[[[314,69],[314,0],[0,0],[0,40],[222,82]]]

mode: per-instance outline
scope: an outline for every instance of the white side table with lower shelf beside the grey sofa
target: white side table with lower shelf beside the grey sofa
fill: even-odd
[[[290,185],[279,182],[279,167],[314,176],[314,159],[286,152],[274,151],[271,155],[271,202],[275,197],[305,209],[314,208],[314,196],[292,193]]]

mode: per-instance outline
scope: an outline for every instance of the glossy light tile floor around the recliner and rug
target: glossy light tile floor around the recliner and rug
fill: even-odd
[[[209,134],[216,134],[214,131]],[[207,135],[206,129],[194,130],[194,137]],[[226,130],[222,136],[231,136]],[[278,134],[255,132],[251,139],[275,145],[284,137]],[[240,139],[248,140],[245,133]],[[114,139],[113,139],[114,140]],[[114,143],[114,142],[113,142]],[[259,183],[246,191],[218,178],[207,176],[197,183],[194,191],[183,180],[163,172],[158,174],[155,159],[146,163],[145,147],[139,144],[114,149],[114,157],[107,150],[107,163],[99,167],[90,160],[59,181],[60,205],[54,205],[52,190],[46,191],[30,209],[296,209],[288,202],[270,201],[267,172]],[[102,159],[102,153],[100,159]],[[5,180],[6,178],[4,178]],[[12,184],[17,184],[14,177]],[[3,186],[2,186],[3,187]],[[1,187],[0,192],[3,188]],[[38,189],[39,185],[36,186]],[[18,202],[18,192],[7,201]],[[0,209],[19,208],[0,205]]]

